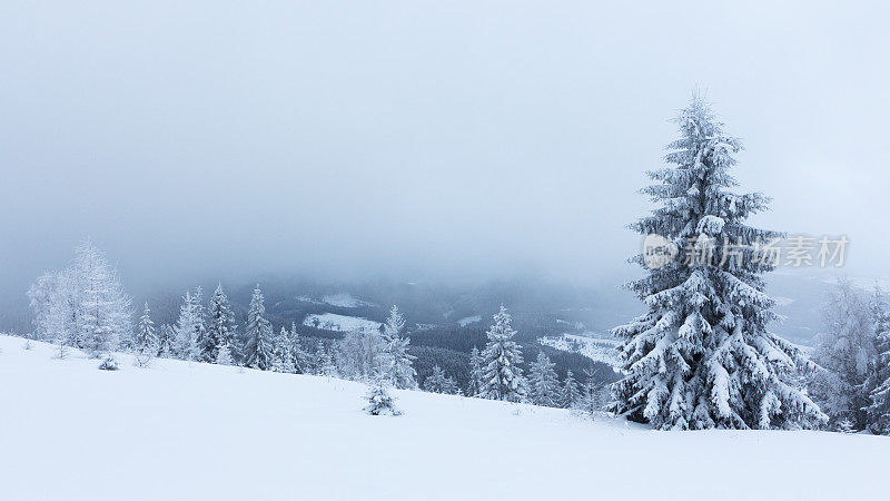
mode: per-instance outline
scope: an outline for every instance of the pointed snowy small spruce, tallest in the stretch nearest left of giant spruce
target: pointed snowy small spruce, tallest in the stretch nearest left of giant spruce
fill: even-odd
[[[494,315],[494,325],[486,332],[488,343],[482,352],[483,381],[479,396],[490,400],[524,402],[527,384],[522,375],[522,352],[513,340],[516,331],[510,326],[512,317],[504,305]]]

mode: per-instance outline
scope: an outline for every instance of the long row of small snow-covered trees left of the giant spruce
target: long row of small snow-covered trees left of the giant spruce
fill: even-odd
[[[346,333],[338,342],[303,337],[296,323],[277,334],[266,317],[259,285],[254,289],[246,322],[239,326],[221,285],[205,304],[200,287],[187,291],[174,324],[156,326],[146,303],[132,325],[130,298],[103,254],[87,240],[77,247],[73,264],[61,272],[48,272],[28,293],[36,315],[38,338],[65,347],[82,348],[93,356],[116,350],[132,352],[139,365],[151,357],[168,357],[261,371],[339,376],[355,381],[383,381],[398,389],[417,389],[417,373],[403,335],[405,318],[393,306],[380,330]],[[516,331],[503,306],[494,315],[482,352],[473,348],[471,382],[466,392],[438,367],[426,377],[423,389],[437,393],[467,394],[510,402],[571,407],[595,399],[593,377],[582,389],[570,372],[561,383],[554,364],[543,353],[531,364],[526,377]]]

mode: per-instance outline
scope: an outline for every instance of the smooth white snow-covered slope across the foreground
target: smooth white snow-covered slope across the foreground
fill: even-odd
[[[0,336],[0,499],[883,499],[890,439],[656,432],[567,411]]]

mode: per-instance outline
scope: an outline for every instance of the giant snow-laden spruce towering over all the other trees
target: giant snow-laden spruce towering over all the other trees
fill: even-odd
[[[631,227],[671,240],[679,259],[629,284],[647,312],[613,330],[625,340],[619,346],[625,375],[613,385],[610,409],[661,430],[822,422],[791,377],[811,363],[767,331],[777,315],[761,274],[773,264],[755,259],[754,245],[781,234],[744,220],[769,199],[730,191],[732,155],[742,145],[700,97],[676,122],[681,138],[665,157],[671,166],[649,173],[655,184],[643,189],[660,207]],[[642,255],[634,261],[644,265]]]

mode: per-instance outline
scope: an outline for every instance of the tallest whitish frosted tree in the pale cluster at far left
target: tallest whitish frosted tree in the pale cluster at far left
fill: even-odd
[[[117,272],[89,239],[77,247],[73,271],[79,287],[77,331],[81,347],[92,356],[117,348],[132,333],[130,296]]]

